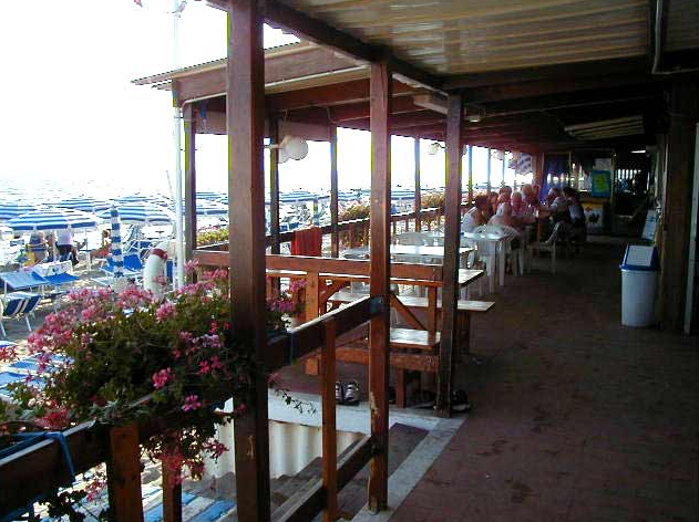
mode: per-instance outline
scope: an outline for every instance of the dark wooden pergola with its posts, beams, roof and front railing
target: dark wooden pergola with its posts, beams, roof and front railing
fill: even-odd
[[[444,367],[438,398],[444,411],[449,411],[455,343],[464,144],[541,154],[576,146],[641,147],[658,143],[656,135],[665,135],[660,140],[667,149],[662,314],[666,326],[677,328],[681,324],[699,100],[697,77],[691,72],[699,63],[696,1],[209,3],[228,13],[227,60],[141,83],[173,88],[184,107],[191,226],[195,222],[195,135],[228,135],[230,237],[235,243],[223,255],[232,274],[234,333],[265,367],[276,368],[318,346],[331,358],[338,335],[368,321],[371,325],[371,435],[341,462],[337,462],[332,443],[323,446],[322,483],[279,520],[309,521],[321,510],[326,520],[333,520],[337,489],[369,460],[369,507],[374,511],[388,507],[391,134],[443,139],[446,144],[440,328],[440,364]],[[265,21],[297,34],[304,43],[265,53]],[[299,54],[305,59],[299,60]],[[470,114],[480,114],[481,121],[470,122]],[[566,130],[580,124],[587,125],[586,132]],[[329,129],[330,140],[337,125],[371,130],[371,261],[366,273],[371,292],[369,297],[318,317],[288,336],[270,340],[264,321],[264,138],[278,139],[286,132],[285,125],[305,126],[306,133]],[[271,158],[274,173],[275,153]],[[189,227],[189,241],[194,233]],[[220,257],[218,253],[216,259]],[[331,364],[323,365],[322,379],[323,397],[333,396]],[[237,512],[243,522],[270,520],[267,396],[267,380],[259,376],[249,414],[235,424]],[[83,425],[66,434],[78,471],[104,461],[110,453],[103,439],[91,430]],[[335,409],[323,403],[323,434],[333,430]],[[116,478],[110,481],[110,499],[113,515],[120,521],[143,519],[137,507],[137,436],[130,431],[111,439],[111,466]],[[25,505],[61,483],[58,443],[44,443],[27,456],[25,462],[32,464],[31,470],[19,458],[3,463],[2,510]],[[178,491],[168,491],[164,501],[167,521],[182,519]]]

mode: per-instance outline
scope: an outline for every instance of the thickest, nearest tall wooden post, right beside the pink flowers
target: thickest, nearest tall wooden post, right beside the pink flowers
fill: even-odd
[[[228,216],[233,335],[266,367],[265,327],[265,56],[263,0],[228,4]],[[247,413],[236,418],[238,520],[269,520],[267,378],[250,383]]]

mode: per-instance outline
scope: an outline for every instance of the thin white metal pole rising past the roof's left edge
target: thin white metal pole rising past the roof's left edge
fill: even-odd
[[[173,0],[173,69],[179,66],[179,0]],[[175,289],[184,285],[185,281],[185,241],[182,211],[182,111],[177,105],[177,91],[173,88],[173,137],[175,144]],[[192,246],[195,247],[195,246]]]

